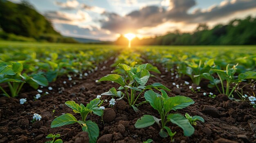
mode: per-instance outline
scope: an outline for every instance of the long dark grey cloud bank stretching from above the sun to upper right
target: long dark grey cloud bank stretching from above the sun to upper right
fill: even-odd
[[[102,28],[117,33],[135,31],[143,27],[153,27],[166,21],[200,23],[210,20],[217,20],[231,15],[238,11],[256,8],[255,0],[232,0],[226,1],[216,7],[211,7],[207,11],[197,9],[193,13],[188,13],[191,7],[195,6],[195,0],[170,0],[168,10],[161,7],[148,6],[138,11],[120,16],[116,13],[104,13],[106,19],[100,20]]]

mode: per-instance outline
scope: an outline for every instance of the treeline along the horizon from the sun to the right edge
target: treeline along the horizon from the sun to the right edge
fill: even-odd
[[[115,44],[128,44],[121,35]],[[256,18],[232,20],[227,25],[218,24],[212,29],[199,24],[193,33],[175,31],[164,36],[132,40],[133,45],[251,45],[256,44]]]

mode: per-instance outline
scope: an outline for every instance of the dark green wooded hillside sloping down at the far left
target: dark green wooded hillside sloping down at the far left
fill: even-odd
[[[76,43],[56,32],[51,22],[26,1],[16,4],[0,0],[0,29],[4,40]]]

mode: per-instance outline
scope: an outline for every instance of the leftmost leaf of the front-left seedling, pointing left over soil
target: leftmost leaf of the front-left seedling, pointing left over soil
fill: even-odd
[[[61,127],[63,125],[70,125],[76,122],[78,121],[72,114],[66,113],[55,118],[51,123],[51,128]]]

